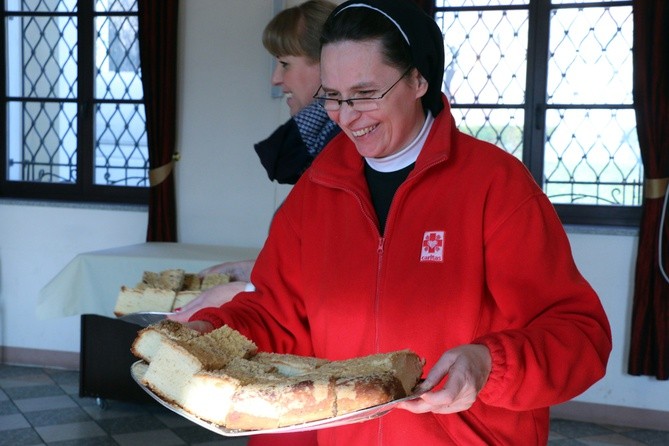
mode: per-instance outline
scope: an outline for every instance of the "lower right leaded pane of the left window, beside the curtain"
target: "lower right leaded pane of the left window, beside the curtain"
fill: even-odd
[[[95,120],[95,184],[147,186],[144,106],[100,104]]]

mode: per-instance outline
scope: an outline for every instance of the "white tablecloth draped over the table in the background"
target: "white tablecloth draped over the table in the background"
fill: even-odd
[[[99,314],[114,317],[121,286],[144,271],[181,268],[197,273],[221,262],[255,259],[259,249],[184,243],[142,243],[77,255],[40,291],[37,317]]]

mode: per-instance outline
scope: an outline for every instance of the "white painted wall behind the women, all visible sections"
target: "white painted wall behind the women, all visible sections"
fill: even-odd
[[[283,100],[270,97],[271,58],[260,42],[272,2],[198,0],[181,7],[180,241],[259,247],[287,191],[269,183],[252,148],[287,118]],[[36,319],[39,289],[77,253],[140,243],[145,233],[143,210],[0,201],[0,345],[78,351],[78,318]],[[625,374],[636,236],[570,231],[570,240],[614,334],[607,376],[578,400],[669,411],[669,382]]]

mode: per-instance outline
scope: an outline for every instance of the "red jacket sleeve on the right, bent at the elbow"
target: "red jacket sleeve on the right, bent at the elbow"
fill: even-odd
[[[547,407],[604,376],[608,320],[544,194],[490,228],[485,258],[490,295],[505,319],[522,328],[493,330],[474,341],[492,355],[483,402],[514,410]]]

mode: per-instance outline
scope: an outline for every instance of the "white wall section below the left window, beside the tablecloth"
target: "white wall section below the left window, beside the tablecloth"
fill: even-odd
[[[38,320],[39,290],[76,254],[141,243],[144,210],[0,202],[0,345],[78,351],[79,317]]]

